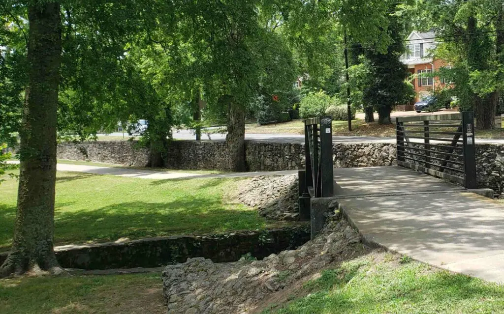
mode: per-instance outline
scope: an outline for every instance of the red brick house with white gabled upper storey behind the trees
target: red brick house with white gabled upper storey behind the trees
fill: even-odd
[[[406,39],[407,52],[401,57],[401,61],[408,66],[412,75],[418,74],[418,77],[411,81],[415,87],[415,101],[420,101],[430,91],[445,87],[449,83],[439,77],[420,77],[421,74],[435,72],[441,67],[450,67],[445,61],[433,57],[436,48],[434,37],[434,32],[413,31]]]

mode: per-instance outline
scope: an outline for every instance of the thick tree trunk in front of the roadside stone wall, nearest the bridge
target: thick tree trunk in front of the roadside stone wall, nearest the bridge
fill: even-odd
[[[228,103],[226,144],[228,149],[227,170],[246,171],[245,111],[233,101]]]

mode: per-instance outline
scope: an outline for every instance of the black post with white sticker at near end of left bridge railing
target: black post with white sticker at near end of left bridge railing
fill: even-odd
[[[322,197],[334,196],[333,174],[333,132],[332,118],[322,117],[320,120],[320,160]]]

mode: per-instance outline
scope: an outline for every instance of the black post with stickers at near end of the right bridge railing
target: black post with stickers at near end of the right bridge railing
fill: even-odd
[[[474,114],[462,112],[462,137],[464,145],[465,188],[476,188],[476,150],[474,145]]]

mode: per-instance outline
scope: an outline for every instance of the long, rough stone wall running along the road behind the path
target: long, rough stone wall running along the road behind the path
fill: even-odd
[[[89,160],[128,166],[146,166],[149,151],[131,141],[98,141],[58,145],[58,158]],[[165,158],[171,169],[221,170],[227,155],[223,141],[172,141]],[[245,142],[249,171],[296,170],[304,167],[304,144]],[[334,143],[336,168],[392,166],[396,163],[396,145],[387,143]],[[477,144],[478,188],[504,193],[504,145]],[[504,195],[504,194],[503,194]]]

